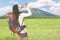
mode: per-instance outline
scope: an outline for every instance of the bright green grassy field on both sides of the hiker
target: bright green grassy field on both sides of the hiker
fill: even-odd
[[[25,19],[29,40],[60,40],[60,19]],[[7,19],[0,19],[0,40],[17,40]]]

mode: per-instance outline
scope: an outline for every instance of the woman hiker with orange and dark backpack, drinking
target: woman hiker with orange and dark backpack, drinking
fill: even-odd
[[[25,8],[28,12],[24,13],[21,10]],[[31,10],[27,6],[27,4],[24,4],[22,7],[20,7],[18,4],[15,4],[13,6],[13,12],[8,13],[8,23],[9,28],[13,33],[17,33],[18,40],[28,40],[28,35],[26,31],[26,24],[24,23],[24,18],[31,16]]]

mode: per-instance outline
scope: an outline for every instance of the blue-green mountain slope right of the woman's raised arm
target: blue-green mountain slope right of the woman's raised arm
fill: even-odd
[[[31,17],[37,17],[37,18],[41,18],[41,17],[59,17],[58,15],[54,15],[52,13],[48,13],[46,11],[37,9],[37,8],[32,8],[32,16]]]

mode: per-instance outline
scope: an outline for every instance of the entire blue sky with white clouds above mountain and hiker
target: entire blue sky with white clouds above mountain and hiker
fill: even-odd
[[[39,8],[60,16],[60,0],[0,0],[0,16],[12,11],[11,8],[16,3],[28,3],[31,8]]]

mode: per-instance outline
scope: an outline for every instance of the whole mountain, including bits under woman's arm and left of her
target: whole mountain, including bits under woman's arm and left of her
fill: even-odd
[[[27,11],[23,11],[23,12],[27,12]],[[40,10],[38,8],[31,8],[31,12],[32,12],[32,16],[29,18],[55,18],[55,17],[60,17],[58,15],[54,15],[52,13]],[[2,17],[5,17],[6,14]]]

